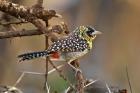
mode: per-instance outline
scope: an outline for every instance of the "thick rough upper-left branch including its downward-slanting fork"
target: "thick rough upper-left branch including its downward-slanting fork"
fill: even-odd
[[[35,7],[27,8],[5,0],[0,0],[0,11],[8,13],[16,18],[23,18],[25,21],[31,22],[42,33],[46,33],[48,31],[45,22],[52,17],[57,16],[54,10],[39,10]]]

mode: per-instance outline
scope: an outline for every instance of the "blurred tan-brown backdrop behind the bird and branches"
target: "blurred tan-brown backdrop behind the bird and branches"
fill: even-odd
[[[17,0],[17,2],[31,6],[36,0]],[[97,37],[93,50],[80,59],[85,77],[102,79],[110,85],[129,90],[125,72],[127,64],[133,93],[140,92],[139,0],[44,0],[43,6],[63,15],[63,19],[51,19],[51,24],[65,21],[71,31],[80,25],[90,25],[103,32]],[[15,27],[21,29],[20,25]],[[31,24],[22,27],[31,28]],[[6,30],[1,27],[1,31]],[[44,36],[0,40],[0,84],[14,84],[20,71],[45,72],[43,59],[18,63],[16,58],[24,52],[44,50],[44,42]],[[50,78],[51,85],[55,87],[64,82],[61,78],[58,80],[57,73]],[[43,84],[43,76],[28,74],[18,87],[26,93],[42,93]]]

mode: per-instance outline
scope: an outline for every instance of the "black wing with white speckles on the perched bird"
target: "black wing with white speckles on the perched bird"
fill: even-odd
[[[83,38],[78,36],[70,36],[65,39],[54,42],[48,49],[48,53],[51,52],[82,52],[88,49],[88,43]]]

